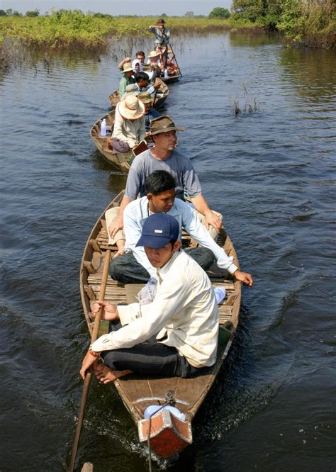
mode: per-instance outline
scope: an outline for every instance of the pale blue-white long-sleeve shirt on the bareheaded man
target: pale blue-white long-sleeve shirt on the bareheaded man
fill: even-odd
[[[206,228],[198,220],[194,210],[184,201],[175,198],[174,205],[167,213],[174,216],[179,222],[179,239],[181,239],[182,227],[203,247],[213,252],[220,269],[226,269],[233,274],[238,268],[233,264],[233,257],[228,257],[224,249],[209,235]],[[156,277],[155,269],[150,264],[143,247],[136,247],[140,240],[142,226],[145,219],[150,215],[147,197],[138,198],[126,206],[123,213],[123,227],[125,232],[125,251],[132,251],[135,259],[149,272],[150,276]]]

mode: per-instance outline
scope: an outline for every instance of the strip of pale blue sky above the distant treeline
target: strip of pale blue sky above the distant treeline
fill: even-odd
[[[0,9],[13,9],[20,13],[28,10],[40,10],[43,14],[50,9],[79,9],[84,11],[95,11],[110,13],[110,15],[167,15],[182,16],[186,11],[194,11],[195,15],[208,15],[215,6],[223,6],[230,9],[232,0],[0,0]]]

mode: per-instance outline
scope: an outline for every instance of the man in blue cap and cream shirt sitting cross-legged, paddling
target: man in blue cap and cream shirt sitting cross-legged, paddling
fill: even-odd
[[[138,246],[156,271],[157,293],[151,303],[111,305],[99,302],[112,331],[86,353],[80,374],[94,365],[102,383],[134,372],[144,376],[189,377],[215,363],[218,305],[211,281],[185,252],[180,252],[179,223],[167,213],[150,215]],[[103,364],[97,362],[101,356]]]

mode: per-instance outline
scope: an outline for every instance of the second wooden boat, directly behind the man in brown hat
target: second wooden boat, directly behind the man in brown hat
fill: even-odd
[[[97,149],[106,162],[108,162],[108,164],[111,164],[111,166],[117,170],[128,172],[135,156],[140,154],[140,152],[147,150],[147,145],[145,141],[142,141],[138,146],[134,147],[133,150],[130,150],[130,152],[113,153],[110,149],[108,149],[107,138],[111,136],[111,128],[113,127],[115,114],[116,111],[113,110],[99,118],[99,120],[96,121],[96,123],[94,123],[92,126],[90,135],[94,140],[94,144],[96,145]],[[103,118],[106,119],[107,135],[105,137],[101,136],[101,121]]]

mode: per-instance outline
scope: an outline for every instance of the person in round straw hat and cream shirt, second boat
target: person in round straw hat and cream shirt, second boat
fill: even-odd
[[[113,133],[108,146],[114,152],[129,152],[145,137],[145,106],[134,95],[126,96],[116,106]]]

